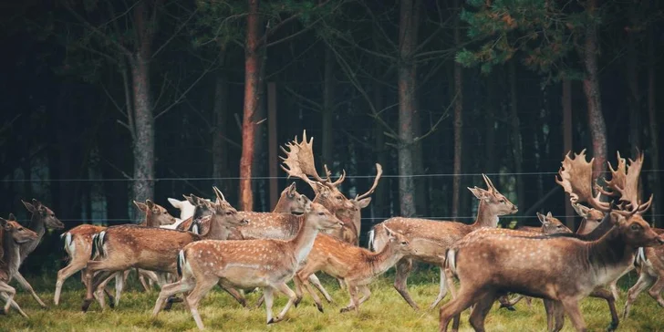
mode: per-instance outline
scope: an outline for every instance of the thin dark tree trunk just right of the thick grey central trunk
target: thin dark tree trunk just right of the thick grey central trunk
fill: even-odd
[[[454,0],[454,45],[461,44],[461,20],[459,13],[461,5]],[[462,192],[462,152],[463,152],[463,72],[462,65],[454,62],[454,178],[452,180],[451,217],[459,216],[460,195]]]

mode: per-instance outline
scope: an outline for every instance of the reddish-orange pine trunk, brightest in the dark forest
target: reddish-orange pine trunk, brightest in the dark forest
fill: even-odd
[[[240,210],[253,211],[252,165],[254,163],[255,113],[260,107],[259,90],[263,81],[260,60],[260,17],[258,0],[248,0],[249,15],[244,48],[244,116],[242,156],[240,158]]]

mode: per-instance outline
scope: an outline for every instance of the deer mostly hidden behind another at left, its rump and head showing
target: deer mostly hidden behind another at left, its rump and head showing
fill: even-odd
[[[140,223],[141,225],[159,227],[161,225],[172,224],[175,222],[175,218],[173,218],[171,214],[159,204],[151,202],[150,200],[147,200],[144,203],[133,202],[141,212],[145,213],[145,219]],[[106,228],[107,227],[105,226],[93,224],[81,224],[60,235],[60,238],[62,238],[65,243],[65,252],[67,252],[67,255],[69,256],[69,264],[57,271],[56,294],[53,297],[56,306],[60,302],[60,293],[62,291],[62,285],[65,284],[65,280],[67,280],[69,276],[83,270],[88,264],[88,260],[92,255],[92,236],[106,230]],[[81,275],[84,274],[85,272],[81,272]],[[85,282],[85,278],[81,279]],[[115,275],[116,293],[114,301],[112,298],[109,298],[109,300],[111,300],[111,305],[117,306],[119,303],[119,297],[124,284],[123,279],[122,275]],[[100,305],[104,306],[101,300]]]

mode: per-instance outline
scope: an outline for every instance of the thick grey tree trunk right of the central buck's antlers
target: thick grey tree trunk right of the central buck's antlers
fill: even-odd
[[[415,108],[415,65],[412,51],[417,40],[413,26],[413,1],[403,0],[399,16],[399,206],[401,215],[415,215],[412,178],[413,112]]]

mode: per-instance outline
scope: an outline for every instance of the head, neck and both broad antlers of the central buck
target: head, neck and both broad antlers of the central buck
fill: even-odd
[[[359,236],[360,231],[360,213],[359,209],[367,207],[370,199],[368,196],[376,190],[379,184],[380,177],[383,173],[380,164],[376,164],[377,174],[374,178],[373,185],[361,195],[358,195],[354,200],[349,200],[342,192],[339,191],[339,185],[346,180],[346,171],[341,172],[341,176],[337,181],[332,182],[330,179],[331,173],[327,170],[327,165],[324,165],[326,177],[322,178],[316,171],[316,164],[314,162],[313,151],[314,138],[307,141],[306,130],[302,132],[302,141],[297,141],[297,136],[292,142],[285,144],[285,148],[281,147],[286,154],[285,157],[280,157],[283,161],[281,168],[288,174],[288,177],[296,177],[306,182],[316,192],[313,202],[323,204],[331,213],[339,217],[339,213],[348,211],[350,217],[342,219],[344,228],[334,232],[334,235],[343,238],[343,233],[355,233],[356,238]],[[286,150],[287,149],[287,150]],[[311,176],[314,180],[310,180]],[[348,214],[347,214],[348,215]],[[352,225],[351,225],[352,223]],[[355,228],[353,230],[353,228]],[[347,236],[348,237],[348,236]],[[356,243],[357,240],[353,241]]]

